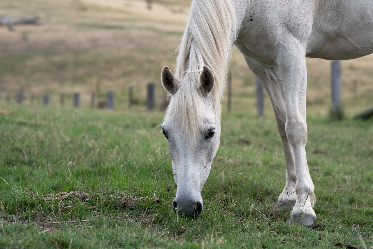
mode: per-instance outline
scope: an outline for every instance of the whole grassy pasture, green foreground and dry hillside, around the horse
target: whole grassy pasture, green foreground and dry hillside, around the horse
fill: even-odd
[[[373,124],[351,119],[373,103],[372,55],[342,62],[341,122],[328,117],[330,62],[307,59],[317,221],[300,227],[274,208],[285,184],[280,137],[268,98],[257,117],[253,73],[233,48],[233,111],[223,103],[204,212],[183,218],[171,210],[172,162],[156,128],[164,112],[126,111],[126,98],[129,86],[151,81],[157,99],[166,95],[160,71],[173,69],[189,2],[154,1],[152,10],[145,1],[102,2],[0,2],[1,14],[41,20],[0,27],[0,248],[373,246]],[[56,107],[59,93],[84,101],[98,86],[103,96],[115,90],[115,110]],[[19,89],[57,98],[50,107],[5,104],[4,93]]]

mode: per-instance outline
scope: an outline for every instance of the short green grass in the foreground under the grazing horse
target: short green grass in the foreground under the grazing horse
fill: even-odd
[[[285,162],[270,117],[223,114],[205,209],[190,219],[170,208],[176,185],[155,129],[163,113],[0,109],[0,248],[373,246],[372,121],[308,118],[318,217],[300,227],[274,209]]]

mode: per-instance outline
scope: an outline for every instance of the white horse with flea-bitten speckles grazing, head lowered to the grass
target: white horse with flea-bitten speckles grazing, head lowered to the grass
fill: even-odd
[[[307,166],[305,57],[342,60],[373,52],[372,0],[194,0],[176,60],[162,84],[171,96],[162,131],[177,185],[173,209],[197,217],[220,142],[221,99],[233,44],[266,90],[286,163],[277,207],[312,225],[316,197]]]

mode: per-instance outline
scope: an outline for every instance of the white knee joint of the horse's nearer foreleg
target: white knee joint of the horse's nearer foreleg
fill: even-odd
[[[307,143],[307,125],[298,120],[287,120],[285,124],[286,137],[289,143],[294,145],[305,145]]]

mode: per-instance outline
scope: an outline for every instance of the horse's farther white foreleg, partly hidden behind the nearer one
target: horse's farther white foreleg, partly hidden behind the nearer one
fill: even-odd
[[[279,77],[279,68],[277,65],[272,65],[270,68],[264,68],[262,64],[256,60],[244,56],[247,65],[251,71],[258,77],[260,83],[266,90],[271,101],[273,113],[275,114],[277,129],[282,141],[283,153],[285,156],[286,165],[286,184],[276,204],[277,208],[291,210],[297,200],[295,194],[295,184],[297,182],[297,174],[294,162],[294,152],[289,140],[286,136],[286,104],[283,94],[282,82]]]

